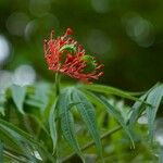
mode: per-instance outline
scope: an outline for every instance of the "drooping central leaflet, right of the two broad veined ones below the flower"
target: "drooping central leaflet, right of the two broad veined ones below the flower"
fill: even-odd
[[[86,98],[86,95],[84,95],[78,89],[73,89],[73,102],[80,102],[76,105],[78,112],[82,115],[82,118],[86,123],[89,133],[91,134],[96,146],[98,148],[99,154],[102,156],[102,146],[100,141],[100,135],[97,128],[97,122],[96,122],[96,113],[93,105],[88,101]]]

